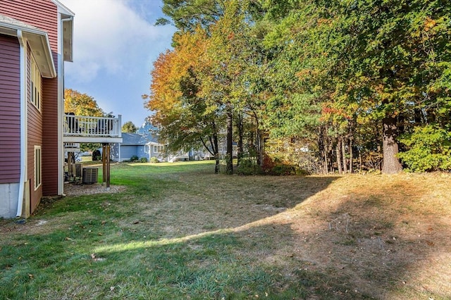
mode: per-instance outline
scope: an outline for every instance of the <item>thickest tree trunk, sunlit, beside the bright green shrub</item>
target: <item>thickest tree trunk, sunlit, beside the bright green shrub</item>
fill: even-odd
[[[395,174],[402,171],[402,165],[397,158],[399,152],[397,138],[396,118],[385,117],[382,120],[383,126],[383,167],[382,173]]]

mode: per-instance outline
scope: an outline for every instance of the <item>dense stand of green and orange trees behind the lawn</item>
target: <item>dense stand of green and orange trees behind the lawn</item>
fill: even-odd
[[[152,91],[159,94],[150,96],[163,127],[194,128],[214,119],[223,128],[228,119],[231,148],[231,121],[242,137],[247,116],[263,132],[257,144],[266,131],[272,139],[303,141],[325,172],[352,172],[354,154],[383,155],[384,173],[402,170],[399,151],[421,148],[418,132],[433,138],[451,128],[451,6],[445,1],[163,3],[179,29],[175,50],[157,61],[166,69],[155,74]],[[400,144],[403,132],[415,135]],[[409,165],[412,156],[402,157]]]

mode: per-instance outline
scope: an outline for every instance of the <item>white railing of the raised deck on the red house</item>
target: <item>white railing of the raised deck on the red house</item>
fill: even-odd
[[[121,115],[118,117],[87,117],[64,115],[66,137],[121,137]]]

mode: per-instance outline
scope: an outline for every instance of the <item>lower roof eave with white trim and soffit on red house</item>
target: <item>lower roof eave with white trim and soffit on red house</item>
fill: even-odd
[[[23,38],[27,39],[42,77],[56,77],[56,69],[51,56],[47,32],[20,20],[0,15],[0,34],[18,37],[19,41]]]

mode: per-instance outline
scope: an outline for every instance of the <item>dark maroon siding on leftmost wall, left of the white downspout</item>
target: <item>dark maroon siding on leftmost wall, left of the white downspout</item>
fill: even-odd
[[[20,177],[20,46],[0,35],[0,183]]]

